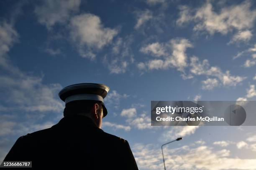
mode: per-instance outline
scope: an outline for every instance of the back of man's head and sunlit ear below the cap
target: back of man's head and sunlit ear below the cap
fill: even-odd
[[[98,128],[101,128],[103,107],[100,101],[76,100],[66,104],[64,117],[70,115],[83,115],[90,117]]]

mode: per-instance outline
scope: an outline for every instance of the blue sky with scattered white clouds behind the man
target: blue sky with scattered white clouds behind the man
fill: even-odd
[[[58,93],[110,87],[102,129],[141,170],[255,170],[254,126],[151,126],[151,100],[255,100],[256,3],[1,0],[0,162],[63,117]]]

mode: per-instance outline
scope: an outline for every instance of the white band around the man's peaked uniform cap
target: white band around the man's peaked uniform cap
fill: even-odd
[[[78,94],[78,95],[72,95],[65,99],[65,103],[72,102],[74,100],[96,100],[96,101],[102,101],[103,98],[100,95],[94,95],[94,94]]]

